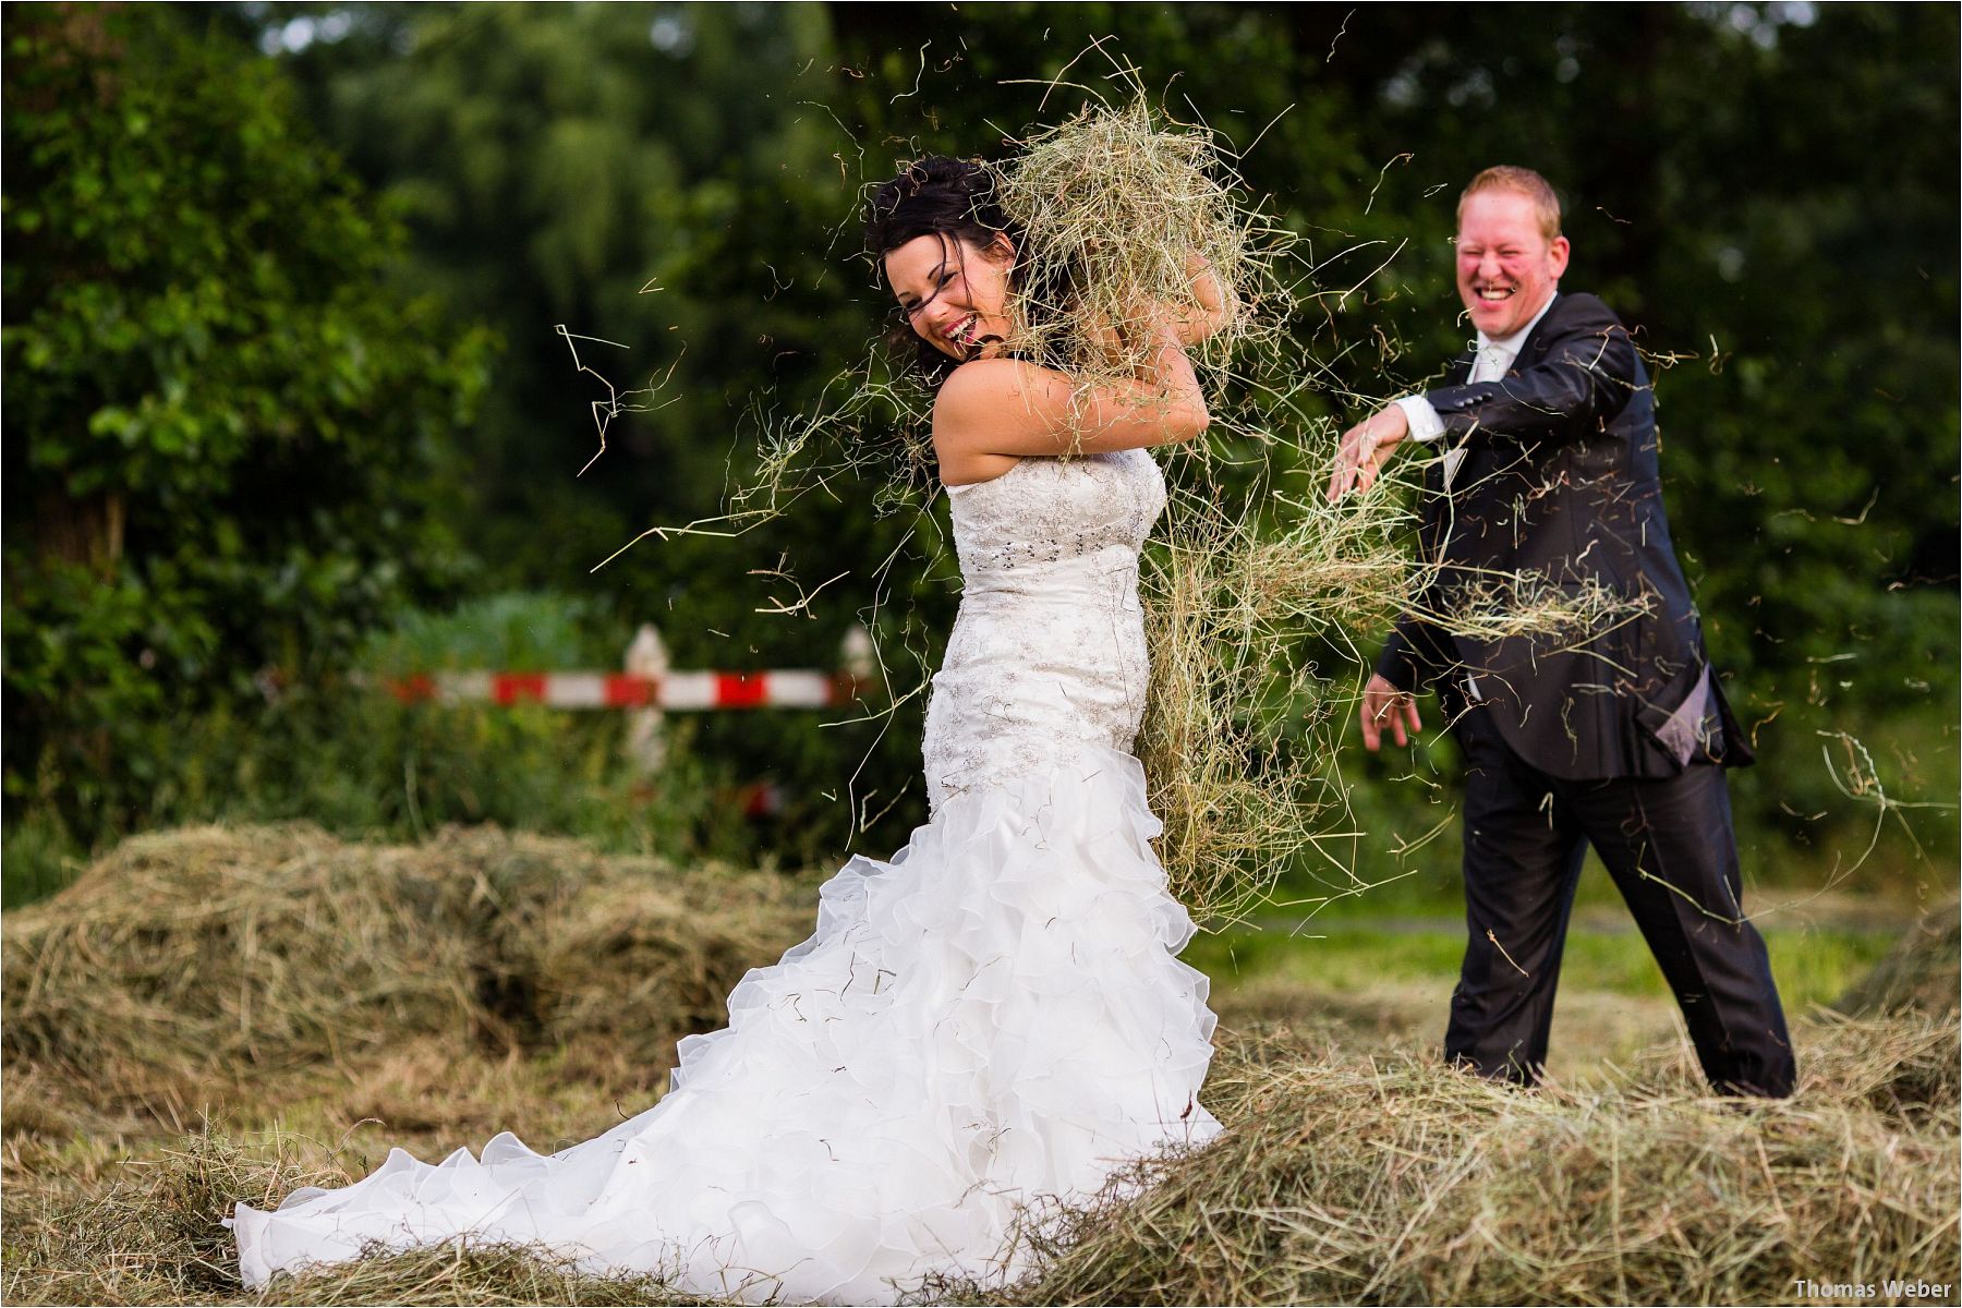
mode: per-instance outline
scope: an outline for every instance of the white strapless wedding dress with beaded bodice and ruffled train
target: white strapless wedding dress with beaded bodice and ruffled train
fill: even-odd
[[[693,1294],[893,1302],[1028,1269],[1028,1206],[1199,1143],[1207,979],[1130,749],[1144,710],[1144,451],[1024,459],[952,500],[965,592],[926,714],[932,820],[852,859],[816,933],[681,1041],[673,1088],[540,1155],[396,1149],[343,1190],[237,1206],[249,1286],[365,1247],[542,1243]]]

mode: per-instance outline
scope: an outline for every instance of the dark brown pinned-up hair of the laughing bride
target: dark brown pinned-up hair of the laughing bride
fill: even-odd
[[[977,249],[987,249],[997,237],[1008,237],[1016,251],[1008,286],[1016,288],[1024,253],[1022,227],[1003,212],[995,171],[985,163],[930,155],[906,165],[904,173],[873,192],[865,206],[865,251],[873,257],[881,278],[885,257],[922,235],[938,235],[950,245],[967,241]],[[946,378],[959,363],[928,345],[901,320],[891,331],[891,345],[903,353],[908,343],[920,369],[934,382]]]

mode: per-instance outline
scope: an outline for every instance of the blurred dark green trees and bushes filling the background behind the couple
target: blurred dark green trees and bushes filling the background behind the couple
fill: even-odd
[[[210,816],[897,845],[918,698],[702,720],[636,782],[618,724],[408,724],[336,679],[410,614],[471,663],[604,667],[655,620],[679,667],[736,669],[826,663],[869,618],[910,688],[952,561],[930,520],[867,512],[871,482],[589,569],[714,514],[757,435],[865,357],[889,306],[861,184],[997,155],[1081,104],[1059,73],[1116,94],[1112,59],[1303,233],[1330,422],[1462,345],[1464,180],[1511,161],[1562,188],[1568,282],[1656,363],[1683,563],[1758,724],[1746,857],[1829,871],[1874,820],[1842,784],[1956,798],[1956,35],[1952,8],[1805,4],[8,8],[10,894]],[[606,390],[561,324],[647,388],[583,477]],[[838,580],[765,614],[771,571]],[[496,596],[528,614],[508,651]],[[1407,765],[1362,771],[1373,830],[1434,826]],[[712,802],[765,777],[791,796],[769,826]],[[1913,824],[1952,880],[1952,810]],[[1927,875],[1891,839],[1866,875]]]

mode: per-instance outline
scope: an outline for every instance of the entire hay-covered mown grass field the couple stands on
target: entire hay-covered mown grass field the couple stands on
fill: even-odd
[[[716,1022],[742,969],[804,933],[812,884],[481,830],[124,845],[6,920],[0,1292],[261,1302],[218,1226],[232,1202],[359,1177],[392,1145],[598,1133],[659,1094],[673,1039]],[[1201,937],[1189,957],[1222,1018],[1207,1098],[1228,1135],[1148,1165],[1142,1196],[1052,1214],[1034,1283],[948,1292],[1660,1304],[1787,1302],[1795,1277],[1825,1275],[1954,1286],[1954,933],[1903,955],[1911,914],[1815,896],[1764,920],[1803,1084],[1760,1106],[1707,1096],[1607,904],[1577,916],[1536,1094],[1438,1067],[1448,922]],[[498,1249],[369,1259],[269,1298],[675,1302]]]

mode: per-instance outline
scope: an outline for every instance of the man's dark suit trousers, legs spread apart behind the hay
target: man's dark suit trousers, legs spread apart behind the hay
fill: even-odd
[[[1744,920],[1721,767],[1678,777],[1566,780],[1530,767],[1462,714],[1466,755],[1464,969],[1444,1057],[1532,1084],[1546,1065],[1574,888],[1595,847],[1676,994],[1711,1084],[1783,1096],[1797,1067],[1764,937]]]

